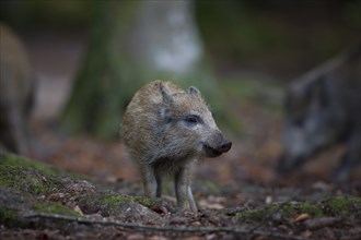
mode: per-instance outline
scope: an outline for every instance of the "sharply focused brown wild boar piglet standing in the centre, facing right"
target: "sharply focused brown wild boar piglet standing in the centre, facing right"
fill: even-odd
[[[231,148],[197,88],[153,81],[127,107],[121,135],[138,163],[148,196],[162,194],[162,177],[174,177],[177,205],[197,211],[190,179],[199,158],[216,157]]]

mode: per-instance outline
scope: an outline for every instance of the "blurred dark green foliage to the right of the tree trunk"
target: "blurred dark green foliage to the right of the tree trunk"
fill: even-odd
[[[360,39],[360,0],[196,1],[199,29],[216,65],[286,79]]]

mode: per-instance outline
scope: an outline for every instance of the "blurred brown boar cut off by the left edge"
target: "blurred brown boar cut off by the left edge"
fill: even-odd
[[[34,77],[19,37],[0,23],[0,147],[27,154]]]

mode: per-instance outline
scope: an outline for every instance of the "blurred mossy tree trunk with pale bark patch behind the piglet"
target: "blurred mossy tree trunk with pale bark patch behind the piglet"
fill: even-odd
[[[115,136],[133,93],[155,79],[195,85],[219,103],[191,2],[100,2],[62,123],[73,133]]]

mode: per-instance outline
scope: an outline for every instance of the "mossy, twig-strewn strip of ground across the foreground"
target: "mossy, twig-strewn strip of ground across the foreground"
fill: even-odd
[[[167,229],[163,230],[166,235],[172,232],[172,227],[191,228],[197,236],[205,235],[203,227],[214,228],[216,237],[229,238],[240,235],[235,233],[234,229],[242,230],[247,238],[258,235],[270,238],[334,238],[341,233],[353,238],[361,233],[357,230],[361,224],[361,197],[349,193],[333,194],[331,191],[326,191],[318,197],[319,193],[307,190],[307,200],[291,197],[291,190],[278,189],[270,194],[275,202],[265,204],[261,200],[268,190],[261,187],[248,185],[240,192],[240,189],[234,187],[200,181],[196,182],[196,189],[197,184],[202,187],[199,190],[202,194],[196,191],[200,212],[195,215],[176,211],[174,202],[167,199],[150,200],[121,194],[125,188],[129,189],[135,184],[97,184],[96,181],[79,179],[69,172],[8,153],[1,154],[0,163],[0,221],[4,228],[2,236],[7,236],[7,232],[12,236],[11,232],[19,228],[32,228],[35,229],[34,232],[57,229],[57,235],[47,233],[53,237],[90,236],[95,232],[103,237],[114,237],[119,232],[125,236],[133,235],[127,229],[119,231],[112,224],[102,227],[98,224],[42,218],[44,215],[72,219],[77,217],[90,221],[117,219],[135,225],[164,227]],[[243,201],[240,201],[240,194],[243,194]],[[228,195],[228,199],[222,200],[216,195]],[[278,201],[287,196],[288,201]],[[218,207],[219,205],[221,207]],[[195,228],[199,228],[198,233]],[[331,232],[326,230],[329,228],[333,229]],[[156,230],[150,232],[155,236],[164,235]],[[187,233],[178,232],[176,236],[185,237]]]

